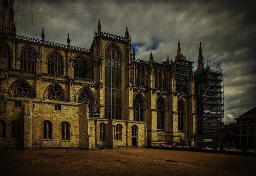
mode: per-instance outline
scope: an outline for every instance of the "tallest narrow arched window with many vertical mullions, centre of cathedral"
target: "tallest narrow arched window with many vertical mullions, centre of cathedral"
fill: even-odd
[[[105,51],[105,118],[121,119],[121,53],[115,44]]]

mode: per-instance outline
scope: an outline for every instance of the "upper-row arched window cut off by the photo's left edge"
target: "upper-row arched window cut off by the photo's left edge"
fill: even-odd
[[[12,63],[11,51],[9,45],[3,41],[0,43],[0,68],[11,68]]]

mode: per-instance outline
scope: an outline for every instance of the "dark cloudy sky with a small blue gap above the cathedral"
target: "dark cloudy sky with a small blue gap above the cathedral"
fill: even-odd
[[[197,66],[199,42],[206,61],[224,63],[225,123],[256,107],[256,1],[15,1],[17,35],[90,48],[97,30],[125,36],[136,58],[175,58],[178,39]]]

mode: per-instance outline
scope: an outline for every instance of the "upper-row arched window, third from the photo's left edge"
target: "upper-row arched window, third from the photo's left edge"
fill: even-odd
[[[64,62],[61,54],[54,51],[48,57],[48,73],[63,75]]]

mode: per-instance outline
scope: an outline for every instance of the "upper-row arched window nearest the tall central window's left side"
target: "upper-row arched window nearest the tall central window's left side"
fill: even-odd
[[[74,76],[77,78],[87,78],[88,68],[86,63],[86,58],[79,55],[74,60]]]

